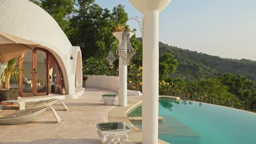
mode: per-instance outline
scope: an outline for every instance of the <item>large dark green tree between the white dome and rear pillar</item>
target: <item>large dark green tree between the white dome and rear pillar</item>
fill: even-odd
[[[108,9],[95,3],[80,7],[78,14],[72,17],[73,34],[69,40],[72,45],[80,46],[83,58],[107,56],[110,44],[115,41],[111,17]]]

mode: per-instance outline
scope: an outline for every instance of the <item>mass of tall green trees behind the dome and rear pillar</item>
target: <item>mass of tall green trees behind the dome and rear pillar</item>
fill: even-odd
[[[72,45],[80,46],[83,58],[105,58],[114,38],[113,26],[125,25],[128,14],[124,5],[117,5],[112,11],[103,9],[94,0],[31,0],[47,11],[59,23]],[[127,26],[129,27],[129,26]],[[135,36],[131,38],[132,46],[141,52],[141,42]],[[135,63],[139,63],[142,54]]]

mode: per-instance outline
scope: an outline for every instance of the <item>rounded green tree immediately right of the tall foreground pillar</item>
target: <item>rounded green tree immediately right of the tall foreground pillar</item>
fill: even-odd
[[[159,78],[165,80],[168,74],[174,73],[178,66],[177,59],[174,59],[172,53],[165,53],[159,59]]]

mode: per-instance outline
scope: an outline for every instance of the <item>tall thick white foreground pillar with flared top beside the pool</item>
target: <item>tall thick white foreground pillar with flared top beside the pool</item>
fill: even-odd
[[[159,13],[171,0],[130,0],[143,14],[142,143],[158,143]]]

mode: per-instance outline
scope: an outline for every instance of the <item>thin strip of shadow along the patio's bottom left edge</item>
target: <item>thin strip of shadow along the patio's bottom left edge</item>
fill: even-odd
[[[86,144],[100,144],[101,141],[98,139],[40,139],[40,140],[33,140],[31,142],[0,142],[1,144],[69,144],[69,143],[86,143]]]

